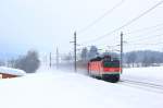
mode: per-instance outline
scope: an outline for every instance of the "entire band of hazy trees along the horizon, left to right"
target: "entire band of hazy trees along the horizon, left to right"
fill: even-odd
[[[77,67],[87,67],[87,62],[96,57],[102,57],[104,55],[111,55],[113,58],[120,58],[120,52],[103,52],[100,53],[99,49],[96,46],[91,46],[89,50],[87,48],[83,48],[80,53],[77,55]],[[8,60],[8,62],[0,59],[0,65],[7,65],[12,68],[18,68],[25,70],[27,73],[36,72],[39,68],[41,61],[39,60],[37,51],[28,51],[26,56],[21,56],[17,59]],[[55,59],[55,58],[53,58]],[[62,61],[66,62],[65,65],[71,65],[74,62],[73,55],[68,53],[64,56]],[[60,61],[60,65],[62,64]],[[43,62],[43,61],[42,61]],[[55,64],[55,60],[53,61]],[[64,63],[63,63],[64,64]],[[135,68],[135,67],[160,67],[163,65],[163,52],[153,51],[153,50],[139,50],[139,51],[130,51],[123,55],[123,65],[126,68]]]

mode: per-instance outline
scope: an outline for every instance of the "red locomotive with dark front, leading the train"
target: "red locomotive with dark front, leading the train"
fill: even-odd
[[[116,83],[121,76],[121,63],[118,58],[103,56],[90,59],[87,64],[90,76]]]

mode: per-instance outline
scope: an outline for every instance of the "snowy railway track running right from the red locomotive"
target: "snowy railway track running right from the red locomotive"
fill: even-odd
[[[121,80],[120,83],[126,86],[163,94],[163,85],[159,85],[154,83],[147,83],[147,82],[141,82],[141,81],[133,81],[133,80]]]

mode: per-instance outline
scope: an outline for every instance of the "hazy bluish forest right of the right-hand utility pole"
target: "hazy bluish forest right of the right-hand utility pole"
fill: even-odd
[[[126,67],[158,67],[163,63],[163,52],[143,50],[124,53]]]

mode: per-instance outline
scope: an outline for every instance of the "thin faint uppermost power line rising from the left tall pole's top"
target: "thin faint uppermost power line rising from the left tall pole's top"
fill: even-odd
[[[89,25],[87,25],[86,27],[79,29],[77,33],[84,33],[85,31],[87,31],[88,28],[90,28],[91,26],[93,26],[97,22],[99,22],[100,20],[102,20],[103,17],[105,17],[108,14],[112,13],[116,8],[118,8],[125,0],[122,0],[121,2],[118,2],[117,4],[115,4],[112,9],[108,10],[104,14],[102,14],[101,16],[99,16],[98,19],[96,19],[93,22],[91,22]]]

